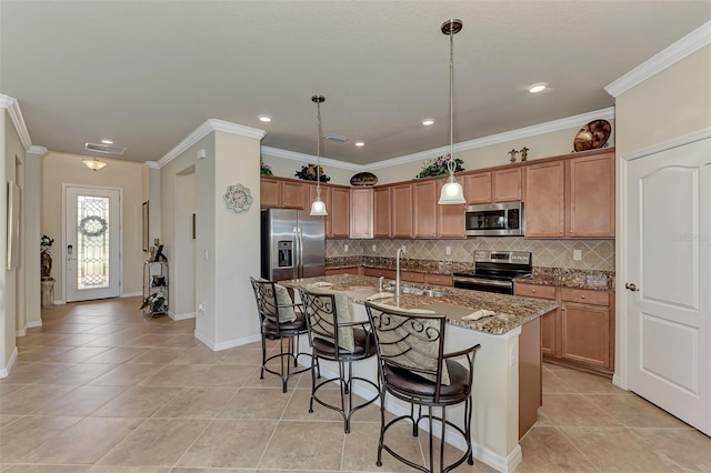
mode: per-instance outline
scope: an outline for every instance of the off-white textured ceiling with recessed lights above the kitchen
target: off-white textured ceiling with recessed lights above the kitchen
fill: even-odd
[[[157,161],[207,119],[365,164],[613,105],[603,88],[711,20],[710,1],[8,1],[0,93],[32,143]],[[548,82],[541,94],[528,85]],[[257,117],[269,114],[271,123]],[[435,123],[424,128],[423,118]],[[363,148],[353,142],[362,140]]]

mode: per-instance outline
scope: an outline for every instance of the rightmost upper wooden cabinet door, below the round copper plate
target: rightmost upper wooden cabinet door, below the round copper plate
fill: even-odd
[[[614,238],[614,153],[570,161],[568,236]]]

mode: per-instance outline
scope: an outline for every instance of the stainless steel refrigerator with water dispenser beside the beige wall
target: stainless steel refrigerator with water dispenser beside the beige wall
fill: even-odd
[[[261,276],[270,281],[323,275],[323,217],[306,210],[262,209],[261,252]]]

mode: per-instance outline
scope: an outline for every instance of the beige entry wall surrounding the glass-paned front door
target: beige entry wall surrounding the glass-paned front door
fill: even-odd
[[[52,278],[54,299],[62,300],[64,264],[62,250],[62,184],[83,184],[123,189],[123,285],[121,294],[142,291],[142,203],[143,173],[148,169],[138,162],[104,159],[109,165],[101,171],[87,169],[84,155],[48,152],[42,157],[42,223],[41,231],[54,239],[52,246]]]

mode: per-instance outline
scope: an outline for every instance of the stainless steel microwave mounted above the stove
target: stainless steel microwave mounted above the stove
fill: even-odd
[[[464,208],[467,236],[517,236],[524,234],[523,202],[484,203]]]

